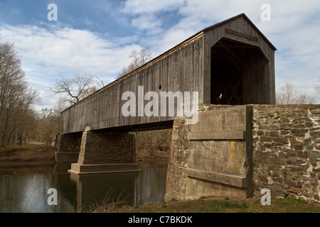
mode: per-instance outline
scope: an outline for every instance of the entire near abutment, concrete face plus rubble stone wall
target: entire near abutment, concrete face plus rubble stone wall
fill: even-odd
[[[320,105],[199,107],[174,121],[165,200],[273,197],[320,203]]]

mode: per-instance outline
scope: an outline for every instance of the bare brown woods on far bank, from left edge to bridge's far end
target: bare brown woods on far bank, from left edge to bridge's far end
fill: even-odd
[[[48,146],[60,130],[60,110],[42,109],[21,68],[21,58],[13,43],[0,43],[0,146],[22,145],[37,140]]]

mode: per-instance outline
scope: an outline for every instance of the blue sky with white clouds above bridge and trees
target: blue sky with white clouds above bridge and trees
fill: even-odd
[[[49,4],[57,6],[56,21],[48,20]],[[289,82],[316,96],[319,0],[6,0],[0,1],[0,35],[18,48],[26,80],[41,96],[35,108],[41,110],[55,105],[58,97],[48,87],[61,77],[95,74],[109,84],[129,65],[132,50],[146,48],[157,57],[240,13],[277,48],[276,89]]]

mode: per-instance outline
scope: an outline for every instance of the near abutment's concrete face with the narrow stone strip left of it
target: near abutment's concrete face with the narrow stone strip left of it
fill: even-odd
[[[252,106],[210,107],[194,125],[174,122],[166,201],[253,194]]]

